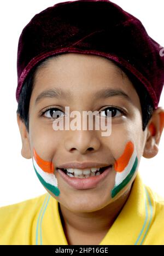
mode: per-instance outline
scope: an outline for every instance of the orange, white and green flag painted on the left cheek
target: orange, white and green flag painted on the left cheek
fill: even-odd
[[[58,196],[60,190],[57,188],[57,178],[54,174],[54,165],[52,162],[45,161],[33,149],[33,166],[40,182],[49,189],[54,195]]]

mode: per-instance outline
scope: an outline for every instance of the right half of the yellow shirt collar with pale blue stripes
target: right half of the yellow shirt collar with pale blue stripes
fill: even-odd
[[[130,196],[99,245],[142,245],[155,214],[150,197],[137,173]]]

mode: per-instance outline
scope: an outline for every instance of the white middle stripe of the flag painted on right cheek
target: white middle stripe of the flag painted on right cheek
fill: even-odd
[[[133,164],[136,160],[136,156],[137,156],[137,153],[136,153],[136,150],[134,149],[131,159],[128,162],[128,165],[126,166],[124,172],[116,173],[115,186],[118,186],[125,179],[125,177],[130,173],[130,171],[132,170]]]

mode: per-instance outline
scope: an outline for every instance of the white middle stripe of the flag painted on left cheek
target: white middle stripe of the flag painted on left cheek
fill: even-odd
[[[55,174],[52,173],[46,173],[44,172],[39,165],[37,164],[36,160],[33,158],[33,165],[36,168],[38,174],[44,179],[44,181],[52,186],[57,187],[57,178],[55,177]]]

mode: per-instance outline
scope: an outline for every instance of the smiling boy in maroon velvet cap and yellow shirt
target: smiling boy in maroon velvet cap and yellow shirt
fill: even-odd
[[[163,72],[160,45],[110,1],[34,16],[18,45],[17,123],[47,193],[1,207],[1,244],[164,245],[164,200],[138,173],[141,156],[158,152]],[[65,107],[97,111],[110,135],[55,130]]]

